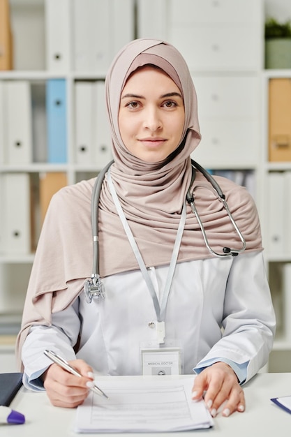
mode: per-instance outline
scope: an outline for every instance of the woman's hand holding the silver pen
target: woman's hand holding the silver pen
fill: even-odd
[[[47,396],[54,406],[75,408],[87,398],[90,387],[94,385],[93,369],[83,360],[69,362],[82,378],[62,369],[57,364],[51,364],[43,373],[43,386]]]

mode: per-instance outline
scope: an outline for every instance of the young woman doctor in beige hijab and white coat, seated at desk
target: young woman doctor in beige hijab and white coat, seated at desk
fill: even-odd
[[[216,178],[244,248],[216,190],[193,170],[197,99],[172,45],[124,47],[106,91],[114,163],[94,211],[105,297],[89,304],[83,292],[93,263],[91,179],[54,195],[45,218],[17,343],[24,385],[74,407],[87,397],[92,371],[195,372],[193,399],[206,391],[213,416],[222,404],[225,416],[242,412],[241,385],[266,364],[275,329],[253,199]],[[45,349],[84,377],[52,364]]]

